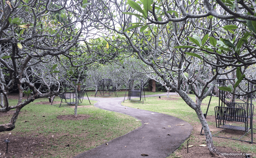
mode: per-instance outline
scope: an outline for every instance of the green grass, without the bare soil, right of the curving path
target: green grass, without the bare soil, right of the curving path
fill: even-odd
[[[194,95],[189,95],[189,96],[195,101]],[[170,97],[176,98],[177,100],[164,100],[164,99],[162,99],[163,97],[161,97],[161,100],[160,100],[159,97],[149,97],[149,98],[146,98],[146,101],[144,101],[144,104],[141,104],[141,103],[139,104],[134,101],[126,100],[124,103],[122,102],[122,105],[128,106],[128,107],[133,107],[133,108],[139,108],[139,109],[143,109],[143,110],[149,110],[149,111],[153,111],[153,112],[165,113],[167,115],[172,115],[174,117],[177,117],[184,121],[187,121],[192,126],[201,124],[196,115],[196,112],[193,109],[191,109],[183,101],[183,99],[181,99],[181,97],[175,97],[175,96],[170,96]],[[202,102],[203,104],[201,105],[201,109],[202,109],[203,113],[206,113],[209,99],[210,99],[210,97],[207,96]],[[253,104],[256,105],[255,102]],[[219,98],[212,97],[207,116],[215,116],[214,107],[218,106],[218,105],[219,105]],[[256,120],[255,117],[253,120]],[[208,124],[215,126],[215,122],[208,121]],[[233,122],[232,125],[244,126],[243,124],[236,124],[235,122]],[[256,124],[253,125],[253,128],[256,128]],[[193,134],[194,134],[194,131],[191,134],[192,139],[190,138],[191,144],[193,144]],[[250,137],[250,132],[247,135],[249,135],[249,137]],[[202,136],[202,138],[203,137],[204,136]],[[195,140],[195,141],[197,141],[197,140]],[[256,138],[254,138],[254,142],[255,141],[256,141]],[[231,147],[234,150],[238,150],[240,152],[256,153],[255,145],[251,145],[246,142],[241,142],[238,140],[229,141],[227,139],[227,141],[225,141],[225,142],[214,141],[214,144],[216,146]],[[173,155],[171,155],[171,156],[173,156]]]

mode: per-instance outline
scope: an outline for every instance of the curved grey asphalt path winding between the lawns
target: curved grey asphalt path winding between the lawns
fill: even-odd
[[[146,97],[151,96],[166,96],[166,94]],[[173,153],[180,147],[193,129],[186,121],[170,115],[131,107],[125,109],[125,106],[121,105],[123,97],[90,97],[89,99],[98,101],[94,104],[95,107],[130,115],[142,120],[142,125],[123,136],[106,142],[107,146],[102,144],[75,156],[75,158],[141,158],[143,153],[149,155],[147,158],[166,158],[169,153]],[[177,124],[184,125],[176,126]]]

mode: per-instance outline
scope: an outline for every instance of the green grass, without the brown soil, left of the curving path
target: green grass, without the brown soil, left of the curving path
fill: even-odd
[[[23,137],[45,137],[46,141],[41,142],[48,144],[45,145],[47,147],[44,147],[45,152],[33,152],[41,157],[69,158],[141,126],[141,123],[134,121],[133,117],[96,108],[93,106],[96,101],[91,101],[92,105],[90,105],[87,100],[79,104],[79,106],[87,106],[78,106],[78,115],[90,115],[90,118],[63,121],[57,119],[57,116],[74,115],[74,108],[58,107],[59,104],[35,104],[40,101],[48,101],[48,99],[36,99],[26,105],[21,110],[15,123],[15,129],[11,133]],[[60,98],[56,97],[54,101],[60,101]],[[17,99],[10,99],[12,105],[17,102]],[[0,123],[8,123],[11,117],[12,115],[1,117]],[[8,132],[3,133],[7,134]],[[50,139],[52,135],[54,139]],[[65,147],[67,144],[70,144],[70,148]]]

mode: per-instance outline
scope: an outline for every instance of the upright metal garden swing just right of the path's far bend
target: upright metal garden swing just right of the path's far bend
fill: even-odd
[[[128,100],[130,101],[141,101],[144,103],[143,100],[143,89],[144,89],[144,83],[143,80],[140,79],[129,79],[128,84],[126,86],[126,91],[128,88]],[[126,91],[125,91],[125,96],[126,96]],[[131,99],[131,97],[139,97],[138,99]],[[145,99],[145,91],[144,91],[144,99]],[[146,99],[145,99],[146,101]],[[125,98],[123,99],[123,102],[125,102]]]

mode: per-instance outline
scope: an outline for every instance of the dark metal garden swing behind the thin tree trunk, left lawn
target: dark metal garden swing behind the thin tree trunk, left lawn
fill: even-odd
[[[75,93],[75,83],[76,80],[73,79],[70,81],[65,81],[63,84],[62,94],[59,94],[58,96],[61,99],[60,106],[62,105],[62,102],[65,102],[68,105],[76,104],[76,93]],[[80,80],[78,85],[78,104],[83,102],[84,94],[86,94],[88,100],[89,97],[86,93],[86,88],[83,85],[83,82]],[[53,98],[54,100],[54,98]],[[52,101],[53,102],[53,101]],[[89,103],[91,104],[90,100]]]

